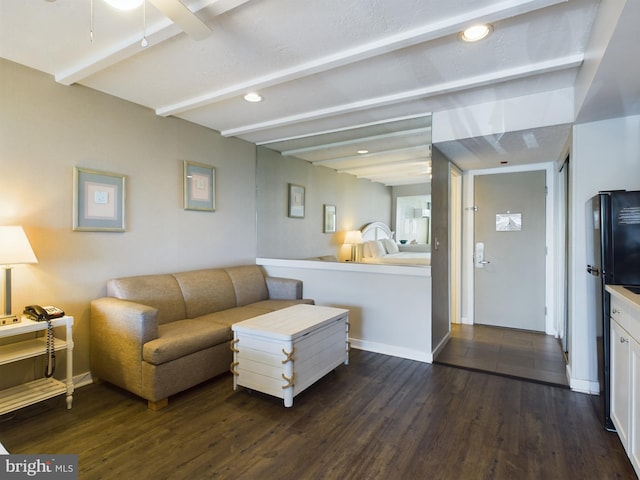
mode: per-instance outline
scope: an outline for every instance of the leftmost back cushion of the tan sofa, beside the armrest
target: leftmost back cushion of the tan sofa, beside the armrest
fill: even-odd
[[[184,298],[173,275],[141,275],[107,282],[107,295],[158,309],[158,323],[185,318]]]

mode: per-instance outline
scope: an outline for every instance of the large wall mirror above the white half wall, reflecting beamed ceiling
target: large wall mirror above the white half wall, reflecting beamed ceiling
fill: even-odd
[[[258,257],[345,260],[346,232],[374,221],[395,230],[396,192],[430,193],[430,169],[430,115],[263,142],[256,150]],[[304,216],[287,214],[291,184],[304,191]],[[324,229],[325,205],[335,207],[335,232]],[[422,215],[424,202],[415,205]],[[407,232],[426,243],[429,220],[414,223]]]

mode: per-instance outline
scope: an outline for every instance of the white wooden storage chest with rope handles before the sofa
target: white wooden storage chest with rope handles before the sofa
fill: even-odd
[[[295,305],[232,325],[233,388],[293,397],[349,363],[349,310]]]

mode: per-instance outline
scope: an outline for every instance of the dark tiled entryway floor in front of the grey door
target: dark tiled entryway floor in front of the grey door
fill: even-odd
[[[451,338],[437,363],[568,387],[560,341],[543,333],[451,325]]]

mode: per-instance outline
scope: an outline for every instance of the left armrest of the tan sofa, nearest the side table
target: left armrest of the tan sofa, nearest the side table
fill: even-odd
[[[158,338],[158,310],[139,303],[104,297],[91,302],[91,372],[140,394],[142,346]]]

